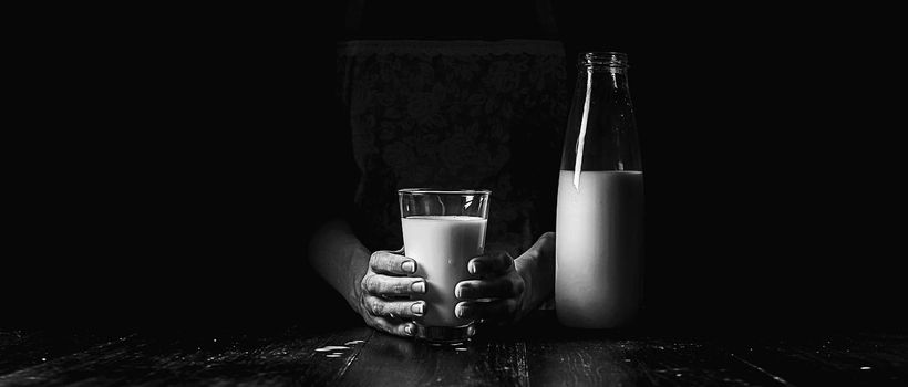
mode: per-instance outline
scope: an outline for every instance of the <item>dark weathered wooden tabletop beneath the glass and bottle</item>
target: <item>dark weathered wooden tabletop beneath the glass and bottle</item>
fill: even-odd
[[[907,386],[908,335],[685,335],[559,327],[537,312],[432,346],[365,326],[0,330],[0,386]]]

